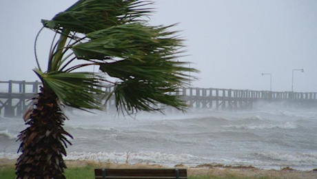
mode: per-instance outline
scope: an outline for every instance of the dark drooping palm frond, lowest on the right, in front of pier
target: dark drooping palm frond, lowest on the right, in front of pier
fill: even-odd
[[[122,112],[161,111],[162,107],[159,106],[159,103],[184,110],[187,106],[180,96],[168,94],[168,92],[177,92],[178,87],[178,85],[170,85],[165,82],[150,83],[130,79],[117,83],[112,93],[115,95],[116,108]]]

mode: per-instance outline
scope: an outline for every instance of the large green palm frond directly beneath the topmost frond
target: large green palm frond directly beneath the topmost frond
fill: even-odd
[[[91,41],[73,45],[77,59],[105,59],[109,56],[143,61],[147,54],[174,54],[181,39],[167,32],[167,27],[149,27],[142,23],[116,25],[87,34]],[[172,36],[174,35],[174,37]]]

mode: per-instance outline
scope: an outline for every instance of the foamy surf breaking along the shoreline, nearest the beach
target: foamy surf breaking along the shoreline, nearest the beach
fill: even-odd
[[[17,159],[21,153],[3,153],[0,152],[0,158]],[[184,164],[188,166],[196,166],[204,163],[223,164],[223,165],[252,165],[254,167],[263,167],[274,169],[280,167],[292,167],[298,169],[316,168],[317,153],[278,153],[278,152],[257,152],[247,154],[243,158],[235,158],[229,156],[221,157],[199,157],[191,154],[167,154],[160,151],[125,151],[125,152],[68,152],[68,156],[64,160],[93,160],[97,162],[115,162],[130,164],[135,163],[151,163],[167,166],[176,164]]]

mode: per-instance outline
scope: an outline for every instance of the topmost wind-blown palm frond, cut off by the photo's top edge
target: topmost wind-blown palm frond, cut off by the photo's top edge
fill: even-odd
[[[113,25],[140,21],[141,17],[152,12],[152,8],[143,8],[150,3],[138,0],[80,0],[52,20],[42,20],[42,23],[54,30],[68,28],[86,34]]]

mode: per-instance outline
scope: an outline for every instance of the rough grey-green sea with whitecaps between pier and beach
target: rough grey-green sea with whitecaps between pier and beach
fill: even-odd
[[[221,164],[263,169],[317,168],[317,110],[263,105],[246,111],[189,109],[186,113],[123,115],[66,112],[74,139],[65,160]],[[22,118],[0,116],[0,158],[15,159]]]

